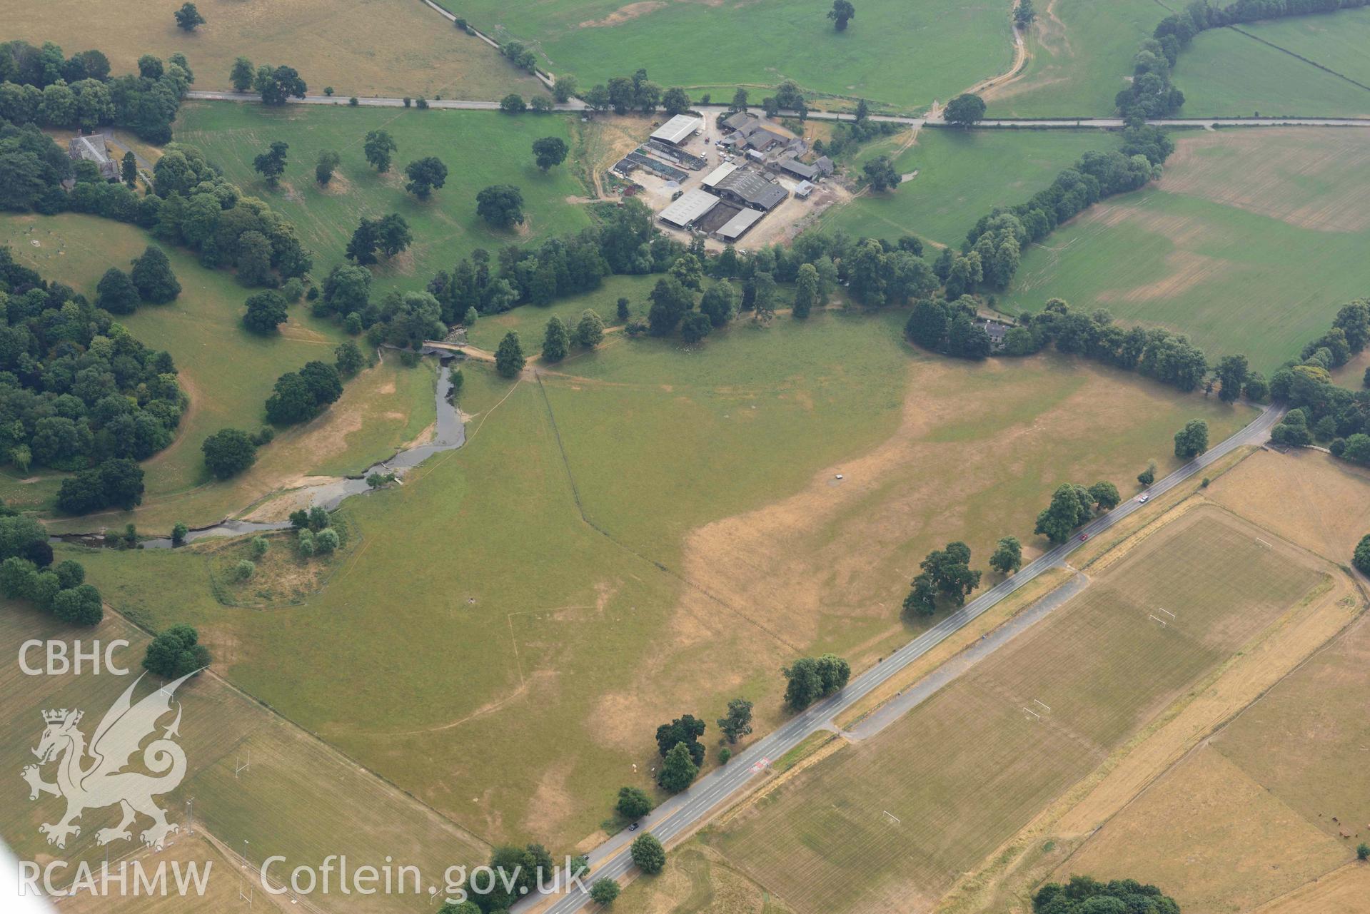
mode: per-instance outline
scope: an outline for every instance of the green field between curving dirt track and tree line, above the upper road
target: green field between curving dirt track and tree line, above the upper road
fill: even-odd
[[[1034,4],[1023,73],[989,90],[989,116],[1107,118],[1126,88],[1132,56],[1166,8],[1154,0],[1054,0]],[[1188,53],[1188,52],[1186,52]]]

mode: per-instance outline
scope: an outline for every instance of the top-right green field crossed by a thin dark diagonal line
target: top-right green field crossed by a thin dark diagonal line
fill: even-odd
[[[1370,115],[1370,89],[1293,56],[1297,53],[1370,85],[1370,64],[1363,51],[1370,41],[1370,10],[1238,27],[1292,53],[1234,29],[1211,29],[1195,36],[1174,71],[1174,83],[1185,93],[1182,116]]]

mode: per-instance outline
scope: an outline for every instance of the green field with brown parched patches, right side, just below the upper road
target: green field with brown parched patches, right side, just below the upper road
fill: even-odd
[[[1262,129],[1180,134],[1164,178],[1030,246],[1000,308],[1048,298],[1182,331],[1270,372],[1365,294],[1370,135]]]

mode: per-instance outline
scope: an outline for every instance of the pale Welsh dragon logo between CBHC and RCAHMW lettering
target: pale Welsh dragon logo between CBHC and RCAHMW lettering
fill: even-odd
[[[167,822],[166,813],[152,802],[153,796],[175,789],[185,777],[185,751],[173,740],[179,736],[179,702],[171,725],[142,750],[142,765],[152,774],[125,769],[142,740],[156,732],[158,721],[170,713],[175,690],[193,675],[188,673],[163,686],[134,705],[133,690],[142,680],[138,676],[104,713],[89,747],[85,733],[78,728],[82,711],[64,707],[42,711],[47,728],[38,747],[33,750],[38,763],[25,768],[22,777],[29,784],[30,800],[42,794],[67,800],[67,811],[58,822],[38,826],[48,836],[48,844],[66,847],[67,837],[81,833],[81,826],[74,824],[81,813],[114,805],[121,807],[122,818],[114,828],[96,832],[100,844],[132,840],[129,826],[140,813],[152,820],[152,826],[140,835],[148,847],[160,848],[167,835],[179,829],[179,825]],[[55,784],[42,780],[41,768],[51,762],[58,766]]]

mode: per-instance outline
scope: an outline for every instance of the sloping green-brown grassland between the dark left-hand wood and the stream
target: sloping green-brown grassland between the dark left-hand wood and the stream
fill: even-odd
[[[45,278],[66,282],[93,300],[104,271],[112,265],[127,270],[152,239],[133,226],[68,213],[4,216],[0,244],[8,244],[18,260]],[[169,305],[144,305],[121,323],[149,346],[171,353],[181,386],[190,395],[189,410],[175,441],[144,461],[147,493],[137,510],[60,519],[56,528],[122,528],[132,521],[147,532],[166,534],[178,520],[212,523],[293,479],[359,472],[433,421],[432,367],[401,368],[397,358],[386,357],[351,379],[342,400],[319,419],[279,432],[258,452],[251,471],[229,482],[214,480],[200,450],[206,436],[225,427],[259,428],[275,379],[314,358],[332,363],[333,348],[344,335],[332,323],[310,317],[303,302],[290,306],[290,320],[279,334],[252,334],[241,324],[251,290],[225,271],[200,267],[184,249],[162,249],[181,282],[181,296]],[[27,478],[32,482],[21,482],[7,469],[0,479],[0,497],[7,504],[41,508],[55,495],[62,475],[40,472]]]

